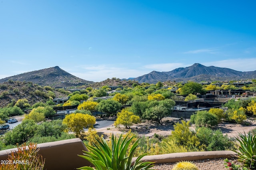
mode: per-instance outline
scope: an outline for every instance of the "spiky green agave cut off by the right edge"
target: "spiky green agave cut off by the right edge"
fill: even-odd
[[[239,138],[236,138],[240,145],[238,146],[238,161],[242,162],[244,167],[249,169],[256,169],[256,135],[253,135],[250,131],[248,134],[238,134]]]

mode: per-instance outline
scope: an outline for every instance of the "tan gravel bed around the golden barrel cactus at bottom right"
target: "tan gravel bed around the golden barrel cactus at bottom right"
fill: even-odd
[[[199,170],[228,170],[224,166],[225,158],[214,158],[204,160],[191,161]],[[235,158],[230,158],[230,162],[234,162]],[[156,164],[152,169],[154,170],[171,170],[176,163]],[[236,163],[238,164],[238,163]]]

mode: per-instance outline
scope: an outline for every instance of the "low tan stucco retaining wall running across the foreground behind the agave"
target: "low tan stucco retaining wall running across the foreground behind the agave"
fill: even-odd
[[[81,158],[82,150],[86,150],[84,143],[79,138],[61,140],[56,142],[47,142],[37,145],[40,148],[38,154],[42,154],[45,158],[45,169],[47,170],[73,170],[82,166],[90,166],[90,162]],[[17,148],[1,150],[0,160],[6,160],[8,154],[17,151]],[[206,151],[206,152],[182,152],[162,155],[144,156],[142,160],[156,162],[156,164],[192,161],[213,158],[231,158],[237,154],[233,151]],[[133,161],[136,158],[132,159]]]

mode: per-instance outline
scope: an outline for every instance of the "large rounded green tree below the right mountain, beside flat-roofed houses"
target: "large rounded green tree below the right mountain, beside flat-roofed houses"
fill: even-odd
[[[196,95],[196,93],[205,94],[205,91],[202,88],[203,87],[201,84],[189,81],[188,83],[184,84],[184,86],[180,88],[180,94],[181,95],[189,95],[189,94]]]

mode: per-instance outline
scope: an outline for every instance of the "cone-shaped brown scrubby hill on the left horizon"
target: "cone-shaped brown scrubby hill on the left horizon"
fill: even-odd
[[[94,83],[93,81],[87,81],[71,75],[58,66],[6,77],[0,79],[0,83],[4,83],[9,79],[13,81],[31,81],[42,87],[51,86],[55,88],[74,87]]]

